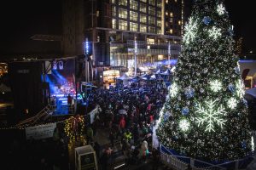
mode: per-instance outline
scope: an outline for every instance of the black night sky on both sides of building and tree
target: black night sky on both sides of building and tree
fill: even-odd
[[[4,2],[4,3],[3,3]],[[0,57],[3,54],[60,52],[59,42],[38,42],[34,34],[61,35],[61,0],[3,1],[0,7]],[[244,37],[243,53],[256,47],[253,1],[225,0],[236,37]],[[253,26],[254,25],[254,26]]]

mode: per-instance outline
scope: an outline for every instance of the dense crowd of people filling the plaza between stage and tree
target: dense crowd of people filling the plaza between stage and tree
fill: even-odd
[[[90,96],[90,103],[102,109],[92,124],[94,135],[98,128],[108,128],[109,144],[101,150],[100,164],[108,169],[113,148],[121,143],[126,164],[137,164],[154,158],[159,161],[159,150],[152,150],[152,133],[162,105],[166,100],[167,88],[163,81],[143,84],[133,82],[131,87],[122,84],[116,88],[97,89]]]

